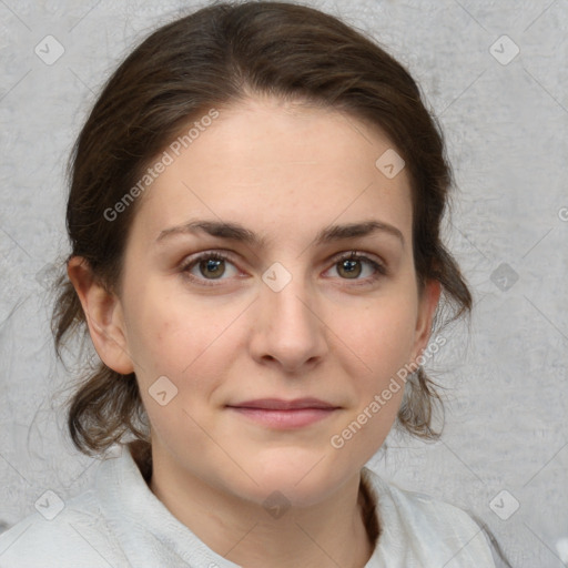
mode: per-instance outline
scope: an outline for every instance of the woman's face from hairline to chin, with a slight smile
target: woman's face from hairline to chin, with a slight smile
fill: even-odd
[[[258,98],[170,151],[114,313],[161,467],[306,505],[379,448],[403,388],[372,403],[425,347],[438,297],[418,294],[409,178],[375,165],[390,148],[336,111]]]

